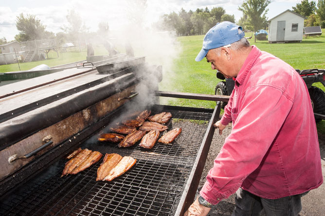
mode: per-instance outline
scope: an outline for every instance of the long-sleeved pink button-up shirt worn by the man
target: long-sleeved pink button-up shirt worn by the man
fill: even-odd
[[[221,118],[231,134],[200,195],[212,204],[242,187],[261,198],[323,183],[317,129],[305,82],[287,63],[253,46]]]

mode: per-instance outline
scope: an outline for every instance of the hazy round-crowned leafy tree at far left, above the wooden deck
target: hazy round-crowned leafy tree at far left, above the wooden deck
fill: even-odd
[[[18,41],[42,39],[46,28],[35,15],[27,14],[25,17],[22,13],[16,17],[16,27],[19,35],[15,39],[17,37]]]

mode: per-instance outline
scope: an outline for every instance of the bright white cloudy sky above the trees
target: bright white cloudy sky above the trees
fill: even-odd
[[[268,6],[268,19],[292,9],[301,0],[271,0]],[[317,4],[317,0],[315,1]],[[163,14],[195,11],[197,8],[223,7],[227,14],[235,15],[235,20],[242,17],[238,6],[243,0],[147,0],[144,21],[147,26],[157,22]],[[46,25],[46,31],[62,32],[61,28],[68,25],[66,15],[74,9],[85,22],[90,32],[96,32],[99,22],[108,22],[109,29],[119,29],[127,23],[126,11],[132,10],[133,0],[0,0],[0,38],[14,40],[18,34],[16,17],[23,13],[35,15]]]

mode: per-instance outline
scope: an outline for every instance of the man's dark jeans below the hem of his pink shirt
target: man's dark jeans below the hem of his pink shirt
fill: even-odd
[[[236,207],[232,216],[259,216],[263,209],[267,216],[298,216],[301,211],[301,197],[305,194],[307,193],[266,199],[239,188],[235,194]]]

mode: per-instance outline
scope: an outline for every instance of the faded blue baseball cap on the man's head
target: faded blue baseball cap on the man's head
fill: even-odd
[[[243,30],[241,26],[229,21],[218,22],[204,36],[202,50],[195,60],[202,60],[209,50],[227,46],[243,38],[244,32],[238,34],[238,29]]]

